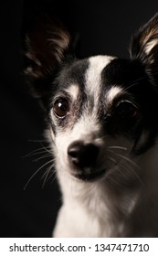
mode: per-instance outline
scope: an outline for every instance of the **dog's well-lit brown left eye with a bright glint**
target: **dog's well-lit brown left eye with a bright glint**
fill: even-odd
[[[59,99],[54,103],[54,112],[58,117],[65,117],[69,112],[69,104],[66,99]]]

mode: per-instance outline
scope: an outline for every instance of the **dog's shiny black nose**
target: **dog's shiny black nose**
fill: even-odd
[[[83,144],[76,141],[68,146],[69,160],[80,168],[95,165],[99,155],[99,147],[95,144]]]

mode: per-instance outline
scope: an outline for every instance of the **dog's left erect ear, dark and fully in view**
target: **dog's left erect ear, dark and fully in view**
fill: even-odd
[[[41,97],[47,92],[69,43],[65,27],[47,16],[36,18],[29,27],[25,38],[25,74],[35,96]]]

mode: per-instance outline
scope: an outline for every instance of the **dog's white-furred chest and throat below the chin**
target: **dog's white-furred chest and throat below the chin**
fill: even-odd
[[[88,184],[82,187],[74,182],[64,187],[64,202],[59,211],[54,236],[126,236],[130,229],[127,212],[132,210],[135,202],[132,201],[129,206],[128,200],[118,198],[117,201],[117,198],[111,198],[108,191],[104,190],[100,185]]]

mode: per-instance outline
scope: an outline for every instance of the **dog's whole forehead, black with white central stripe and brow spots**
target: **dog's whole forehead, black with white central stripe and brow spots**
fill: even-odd
[[[131,84],[142,77],[144,72],[137,61],[95,56],[73,63],[68,70],[67,91],[75,98],[79,91],[84,91],[88,98],[97,99],[102,94],[113,101],[118,94],[127,91]]]

